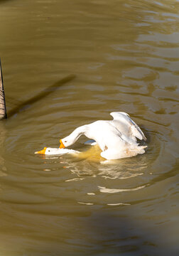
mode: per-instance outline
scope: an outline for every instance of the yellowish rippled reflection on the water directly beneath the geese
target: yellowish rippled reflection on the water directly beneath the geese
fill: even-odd
[[[89,146],[87,151],[82,151],[77,156],[65,154],[63,156],[40,155],[40,157],[46,160],[59,161],[63,168],[70,169],[72,174],[77,176],[77,178],[72,178],[73,181],[96,176],[110,179],[134,178],[143,175],[147,169],[145,155],[128,159],[105,160],[100,153],[99,146],[94,145]]]

